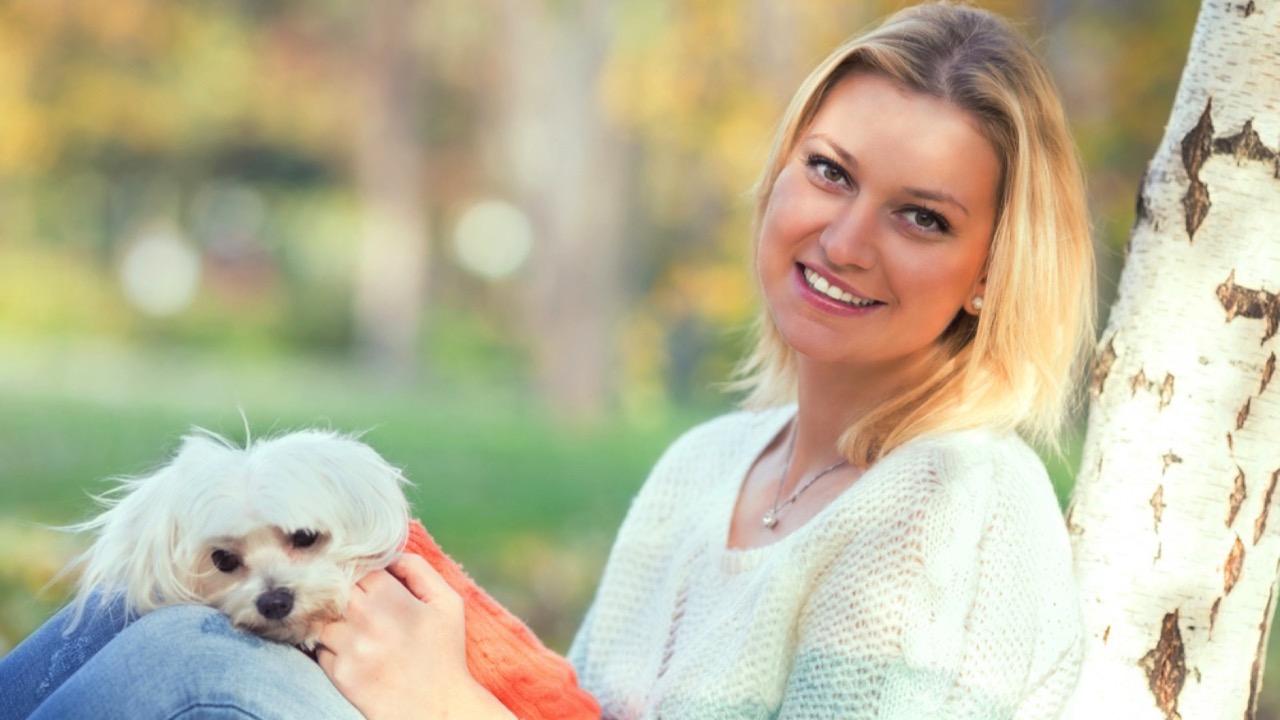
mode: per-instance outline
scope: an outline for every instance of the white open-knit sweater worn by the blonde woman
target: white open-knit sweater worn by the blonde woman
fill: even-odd
[[[692,429],[636,496],[570,650],[604,717],[1056,717],[1083,625],[1034,452],[919,438],[781,541],[727,550],[742,479],[794,413]]]

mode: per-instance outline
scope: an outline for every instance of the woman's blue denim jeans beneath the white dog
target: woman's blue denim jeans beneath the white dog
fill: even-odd
[[[310,657],[218,611],[93,609],[68,637],[64,609],[0,657],[0,720],[361,717]]]

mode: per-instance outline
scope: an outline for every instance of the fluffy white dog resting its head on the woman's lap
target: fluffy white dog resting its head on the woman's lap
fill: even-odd
[[[92,546],[76,612],[123,600],[145,614],[197,603],[268,639],[315,647],[356,580],[385,568],[408,533],[407,480],[369,446],[301,430],[239,448],[205,430],[159,471],[123,480],[72,529]]]

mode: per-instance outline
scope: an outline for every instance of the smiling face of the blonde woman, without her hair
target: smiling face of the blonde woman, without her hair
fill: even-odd
[[[969,115],[883,76],[832,87],[773,186],[756,246],[803,359],[908,372],[982,295],[1000,161]]]

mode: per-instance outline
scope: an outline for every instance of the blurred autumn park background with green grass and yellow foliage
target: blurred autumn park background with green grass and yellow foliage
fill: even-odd
[[[67,597],[47,525],[197,425],[364,432],[566,648],[648,469],[733,405],[774,122],[901,5],[0,0],[0,653]],[[979,5],[1062,90],[1105,313],[1198,3]]]

